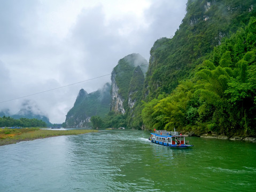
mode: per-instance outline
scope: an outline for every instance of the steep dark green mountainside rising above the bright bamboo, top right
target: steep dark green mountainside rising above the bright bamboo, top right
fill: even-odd
[[[254,0],[189,0],[187,14],[174,37],[159,39],[151,49],[146,99],[172,92],[179,81],[189,77],[191,70],[208,59],[223,37],[230,37],[245,27],[255,11]]]

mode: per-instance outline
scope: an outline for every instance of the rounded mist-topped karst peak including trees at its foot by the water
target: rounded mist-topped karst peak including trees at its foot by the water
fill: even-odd
[[[141,110],[138,110],[138,106],[142,99],[147,69],[148,61],[137,53],[129,54],[119,60],[111,77],[111,111],[104,119],[95,118],[94,127],[135,127],[136,129],[141,127],[142,119],[139,116]],[[98,125],[99,122],[101,126]]]

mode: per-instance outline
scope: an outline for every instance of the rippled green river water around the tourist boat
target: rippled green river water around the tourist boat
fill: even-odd
[[[191,149],[149,132],[100,131],[0,147],[0,191],[255,191],[256,143],[189,137]]]

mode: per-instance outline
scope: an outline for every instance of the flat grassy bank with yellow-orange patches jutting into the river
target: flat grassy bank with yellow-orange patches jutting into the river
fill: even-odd
[[[29,141],[34,139],[55,137],[60,135],[76,135],[97,130],[41,130],[39,128],[29,129],[0,129],[0,146]]]

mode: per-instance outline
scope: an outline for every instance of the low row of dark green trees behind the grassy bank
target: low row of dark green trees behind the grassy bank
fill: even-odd
[[[28,119],[28,118],[20,118],[14,119],[12,117],[0,117],[0,127],[46,127],[46,123],[42,120],[38,120],[36,118]]]

